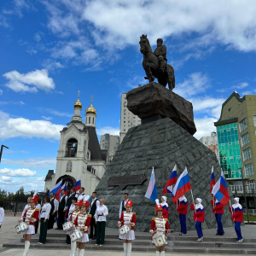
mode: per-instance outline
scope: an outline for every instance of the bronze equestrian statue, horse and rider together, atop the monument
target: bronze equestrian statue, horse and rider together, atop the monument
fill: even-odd
[[[143,68],[146,72],[145,79],[148,79],[149,83],[154,81],[154,78],[158,79],[159,84],[168,87],[172,90],[175,87],[174,69],[171,65],[167,64],[166,59],[166,45],[163,44],[163,39],[157,39],[157,48],[154,49],[154,53],[149,44],[147,35],[142,35],[140,40],[140,51],[143,54]]]

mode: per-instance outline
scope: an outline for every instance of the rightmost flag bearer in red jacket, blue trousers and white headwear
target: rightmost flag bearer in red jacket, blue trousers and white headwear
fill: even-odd
[[[230,212],[231,212],[231,219],[235,222],[235,230],[236,230],[236,236],[237,241],[236,242],[242,242],[243,238],[241,236],[241,222],[243,217],[243,209],[241,207],[241,204],[239,203],[239,197],[234,198],[234,204],[231,206],[230,203]]]

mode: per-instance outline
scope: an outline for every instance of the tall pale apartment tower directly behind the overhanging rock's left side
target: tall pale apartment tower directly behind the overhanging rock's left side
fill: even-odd
[[[126,132],[131,127],[141,124],[142,120],[127,108],[126,93],[123,93],[121,96],[120,143],[122,143]]]

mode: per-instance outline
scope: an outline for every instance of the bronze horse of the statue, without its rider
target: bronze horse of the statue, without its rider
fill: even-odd
[[[154,78],[156,78],[159,84],[164,87],[168,84],[169,89],[172,90],[175,87],[173,67],[166,64],[165,71],[162,72],[162,70],[160,70],[159,61],[151,49],[147,35],[141,36],[139,44],[141,45],[140,51],[143,54],[143,68],[147,75],[145,79],[148,79],[149,83],[151,83],[154,81]]]

